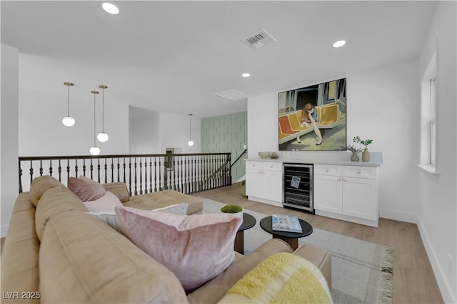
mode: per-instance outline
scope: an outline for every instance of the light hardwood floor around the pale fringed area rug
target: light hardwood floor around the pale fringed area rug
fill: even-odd
[[[291,214],[308,221],[317,229],[351,236],[393,248],[393,303],[443,303],[430,261],[416,224],[380,219],[378,228],[329,219],[306,212],[249,201],[241,195],[239,184],[193,196],[225,204],[238,204],[263,214]]]

